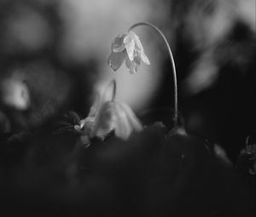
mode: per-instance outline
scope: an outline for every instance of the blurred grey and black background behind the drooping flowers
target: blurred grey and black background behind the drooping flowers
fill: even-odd
[[[153,121],[169,118],[172,66],[159,35],[134,30],[151,62],[137,74],[108,66],[113,38],[140,21],[158,26],[171,45],[189,134],[235,160],[256,132],[254,0],[0,0],[1,136],[70,110],[86,117],[113,77],[118,100],[138,117],[150,109]]]

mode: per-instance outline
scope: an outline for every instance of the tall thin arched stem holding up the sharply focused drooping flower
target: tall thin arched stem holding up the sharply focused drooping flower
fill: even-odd
[[[154,26],[151,23],[148,22],[139,22],[136,23],[134,25],[132,25],[128,31],[131,31],[132,29],[134,29],[137,26],[149,26],[151,28],[153,28],[155,31],[157,31],[160,34],[160,37],[162,37],[166,43],[166,47],[168,49],[168,53],[172,62],[172,76],[173,76],[173,86],[174,86],[174,114],[173,114],[173,122],[174,122],[174,128],[177,127],[177,73],[176,73],[176,68],[175,68],[175,63],[174,63],[174,59],[173,59],[173,55],[172,55],[172,50],[170,48],[170,45],[165,37],[165,35],[163,34],[162,31],[160,31],[160,29],[157,26]]]

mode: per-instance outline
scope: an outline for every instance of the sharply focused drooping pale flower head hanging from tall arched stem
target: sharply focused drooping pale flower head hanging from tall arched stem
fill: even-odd
[[[134,74],[137,72],[141,60],[146,65],[150,65],[148,57],[144,54],[143,45],[133,31],[126,32],[113,39],[111,54],[108,57],[108,65],[111,66],[113,71],[117,71],[125,61],[125,65],[131,74]]]

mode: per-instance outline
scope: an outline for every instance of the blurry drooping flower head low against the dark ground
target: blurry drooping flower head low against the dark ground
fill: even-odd
[[[90,145],[90,139],[94,137],[104,140],[112,131],[120,139],[126,140],[132,132],[143,129],[130,106],[117,100],[96,100],[88,117],[80,120],[74,128],[81,133],[84,145]]]

